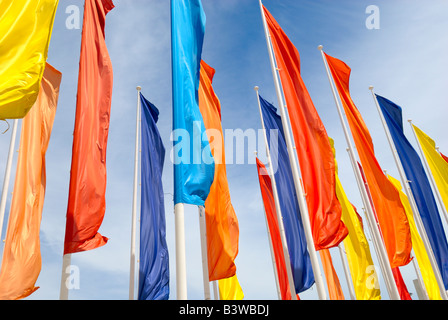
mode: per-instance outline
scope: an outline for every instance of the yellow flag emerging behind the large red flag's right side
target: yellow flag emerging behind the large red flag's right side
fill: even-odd
[[[330,138],[330,143],[335,155],[336,164],[336,195],[342,206],[342,221],[348,229],[348,236],[344,239],[344,248],[347,253],[347,262],[350,269],[350,276],[353,282],[357,300],[380,300],[381,294],[379,288],[367,286],[369,273],[367,272],[373,264],[370,253],[369,243],[364,233],[362,218],[356,211],[343,187],[338,175],[338,164],[336,161],[336,150],[334,141]]]

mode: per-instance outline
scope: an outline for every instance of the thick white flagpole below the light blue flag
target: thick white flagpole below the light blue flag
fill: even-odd
[[[185,256],[185,221],[183,203],[174,205],[174,225],[176,242],[177,300],[187,300],[187,259]]]

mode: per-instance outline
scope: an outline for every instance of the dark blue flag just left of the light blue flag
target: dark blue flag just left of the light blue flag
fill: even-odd
[[[140,94],[142,105],[139,300],[168,300],[169,255],[162,185],[165,147],[157,129],[159,110]]]

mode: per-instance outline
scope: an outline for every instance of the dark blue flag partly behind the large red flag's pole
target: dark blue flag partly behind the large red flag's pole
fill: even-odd
[[[299,203],[292,179],[292,170],[286,147],[283,125],[277,109],[260,97],[261,111],[269,143],[271,160],[274,168],[280,209],[288,244],[292,276],[297,293],[310,288],[314,283],[314,274],[307,250],[305,232],[300,216]],[[278,132],[278,143],[271,143],[271,130]],[[275,141],[275,139],[273,139]],[[277,166],[275,166],[277,164]]]

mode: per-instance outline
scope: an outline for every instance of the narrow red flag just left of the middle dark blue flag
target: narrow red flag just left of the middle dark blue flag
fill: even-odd
[[[264,164],[258,158],[256,158],[256,161],[261,197],[263,199],[264,211],[266,212],[266,219],[268,221],[272,251],[274,252],[275,257],[280,295],[282,300],[291,300],[291,290],[289,288],[286,261],[283,254],[280,228],[278,226],[277,210],[275,208],[274,194],[272,191],[272,181]]]

